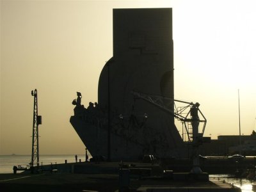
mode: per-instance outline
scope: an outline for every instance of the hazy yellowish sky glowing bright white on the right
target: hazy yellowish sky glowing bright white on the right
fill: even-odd
[[[84,154],[69,122],[76,92],[97,101],[111,58],[113,8],[173,8],[175,99],[199,102],[205,136],[256,129],[255,1],[1,1],[0,154],[31,154],[38,90],[40,154]],[[178,124],[180,124],[178,122]]]

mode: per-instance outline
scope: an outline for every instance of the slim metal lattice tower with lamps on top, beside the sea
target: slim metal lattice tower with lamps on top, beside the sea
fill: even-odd
[[[36,172],[39,170],[39,142],[38,142],[38,125],[42,124],[42,117],[38,116],[37,106],[37,90],[31,91],[34,97],[34,110],[33,110],[33,132],[32,132],[32,154],[31,154],[31,168],[36,163]]]

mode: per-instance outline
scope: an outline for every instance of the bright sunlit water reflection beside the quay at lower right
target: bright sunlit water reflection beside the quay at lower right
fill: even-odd
[[[209,175],[210,180],[220,180],[234,184],[234,186],[240,188],[242,192],[256,191],[256,180],[239,179],[234,175]]]

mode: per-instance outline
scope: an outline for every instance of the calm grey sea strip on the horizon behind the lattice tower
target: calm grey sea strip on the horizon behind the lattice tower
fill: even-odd
[[[57,164],[76,162],[76,155],[40,155],[41,162],[44,164],[51,164],[56,162]],[[90,156],[89,156],[90,158]],[[85,155],[77,154],[77,161],[85,161]],[[0,156],[0,173],[13,173],[14,165],[27,166],[31,161],[31,155],[12,155],[12,156]]]

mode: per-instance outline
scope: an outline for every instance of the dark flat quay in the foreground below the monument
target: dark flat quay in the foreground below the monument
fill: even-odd
[[[169,162],[171,163],[171,162]],[[42,173],[0,174],[1,191],[241,191],[208,173],[163,170],[165,163],[83,162],[43,166]],[[178,167],[177,167],[178,168]]]

